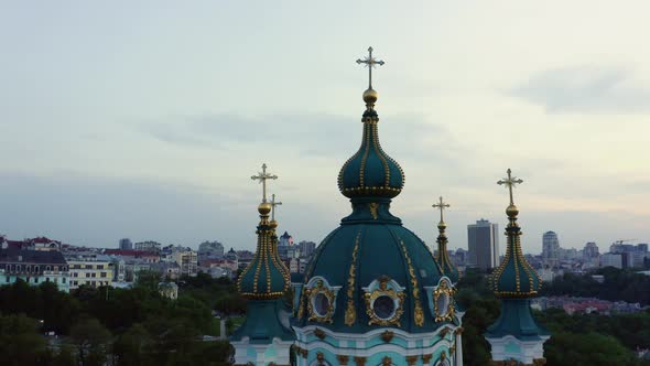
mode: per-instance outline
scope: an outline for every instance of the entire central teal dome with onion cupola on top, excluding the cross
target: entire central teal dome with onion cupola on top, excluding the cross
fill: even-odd
[[[453,301],[437,301],[454,290],[429,247],[390,213],[404,174],[379,143],[377,92],[369,88],[364,100],[361,147],[338,175],[353,213],[307,266],[295,325],[348,334],[382,327],[433,332],[457,321]]]

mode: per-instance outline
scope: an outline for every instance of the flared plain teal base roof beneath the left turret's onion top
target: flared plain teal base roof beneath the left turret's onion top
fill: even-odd
[[[246,321],[230,336],[230,341],[241,341],[248,336],[252,344],[270,344],[273,338],[293,341],[288,310],[283,299],[249,301],[246,309]]]

